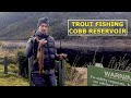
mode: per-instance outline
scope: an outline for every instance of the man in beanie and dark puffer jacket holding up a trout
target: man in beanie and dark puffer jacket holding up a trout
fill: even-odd
[[[39,61],[37,62],[36,59],[37,63],[34,62],[32,66],[32,79],[35,86],[56,86],[55,60],[62,60],[63,57],[57,54],[53,37],[48,33],[48,17],[39,19],[37,28],[34,37],[29,38],[26,45],[27,58],[34,54],[36,59],[36,53],[39,53]],[[37,71],[39,73],[35,73]]]

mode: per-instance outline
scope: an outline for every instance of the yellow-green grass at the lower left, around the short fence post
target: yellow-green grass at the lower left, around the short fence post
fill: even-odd
[[[13,64],[8,66],[8,74],[3,73],[3,65],[0,64],[0,86],[29,86],[29,82],[22,76],[19,76],[15,72],[17,72],[17,68]]]

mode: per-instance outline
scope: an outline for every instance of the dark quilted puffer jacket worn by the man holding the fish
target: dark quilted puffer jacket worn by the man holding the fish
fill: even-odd
[[[36,32],[34,37],[37,37],[40,39],[46,39],[47,42],[44,45],[44,52],[45,52],[45,59],[44,59],[44,70],[48,69],[55,69],[55,60],[58,60],[57,49],[55,47],[55,39],[53,37],[49,35],[44,35],[41,33]],[[34,52],[37,51],[38,44],[34,44],[33,37],[28,39],[26,45],[26,51],[25,54],[27,58],[32,57]],[[34,70],[38,70],[38,65],[34,66]]]

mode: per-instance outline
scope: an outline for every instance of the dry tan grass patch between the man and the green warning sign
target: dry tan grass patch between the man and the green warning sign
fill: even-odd
[[[87,86],[87,68],[66,64],[66,86]]]

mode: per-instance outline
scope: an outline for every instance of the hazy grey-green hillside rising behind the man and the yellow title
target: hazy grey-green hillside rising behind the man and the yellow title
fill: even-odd
[[[67,36],[68,20],[128,20],[131,30],[131,13],[129,12],[0,12],[0,39],[28,39],[36,29],[41,16],[50,20],[50,34],[56,39],[72,39]]]

